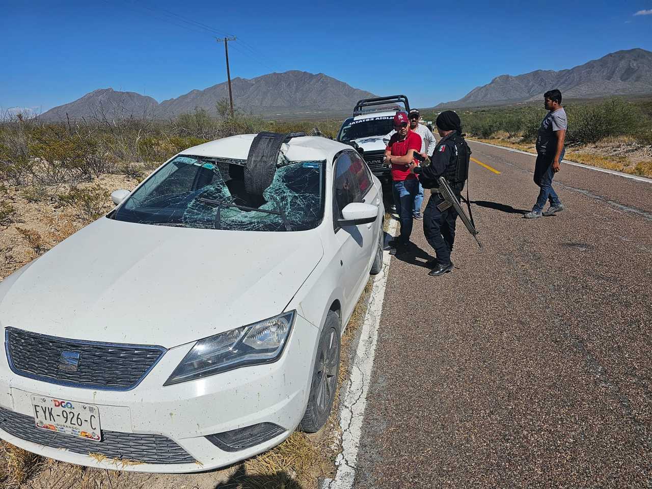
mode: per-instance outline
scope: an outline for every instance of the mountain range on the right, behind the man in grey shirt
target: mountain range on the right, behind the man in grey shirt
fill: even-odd
[[[478,107],[541,100],[557,88],[563,98],[596,98],[652,93],[652,52],[632,49],[609,53],[568,70],[536,70],[497,76],[467,95],[436,108]]]

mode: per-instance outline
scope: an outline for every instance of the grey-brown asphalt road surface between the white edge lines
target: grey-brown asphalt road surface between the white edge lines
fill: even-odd
[[[563,164],[526,220],[535,158],[471,148],[484,248],[393,258],[354,487],[652,487],[652,184]]]

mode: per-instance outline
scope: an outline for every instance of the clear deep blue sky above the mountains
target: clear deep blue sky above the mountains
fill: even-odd
[[[225,34],[238,38],[233,78],[323,72],[420,107],[500,74],[652,51],[652,0],[452,4],[0,0],[0,108],[45,111],[106,87],[159,102],[204,89],[226,80],[214,38]]]

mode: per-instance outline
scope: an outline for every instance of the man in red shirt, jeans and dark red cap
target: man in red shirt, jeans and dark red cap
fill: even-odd
[[[409,165],[419,163],[414,159],[414,153],[421,151],[421,136],[410,130],[405,112],[394,115],[394,129],[396,134],[390,138],[385,149],[385,164],[392,167],[394,203],[401,223],[399,237],[390,241],[389,246],[396,248],[395,253],[400,253],[406,250],[412,233],[412,208],[419,192],[419,181],[411,173]]]

